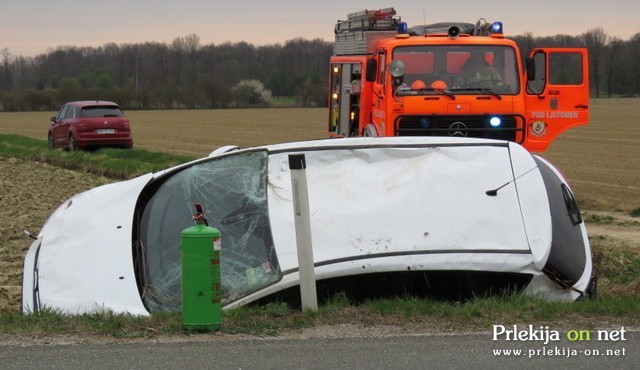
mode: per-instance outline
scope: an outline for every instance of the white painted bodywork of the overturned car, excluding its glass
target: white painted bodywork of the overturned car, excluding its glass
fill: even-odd
[[[538,164],[517,144],[357,138],[265,149],[268,214],[282,278],[226,307],[298,284],[288,156],[301,153],[307,163],[318,280],[373,272],[468,270],[530,274],[527,292],[548,299],[576,299],[587,289],[590,258],[571,289],[558,286],[542,271],[552,244],[549,202]],[[242,152],[213,152],[211,158],[193,163]],[[27,253],[23,311],[47,307],[70,314],[148,315],[133,267],[134,210],[150,182],[193,163],[101,186],[63,203]],[[487,194],[490,190],[496,194]],[[580,227],[590,257],[584,223]]]

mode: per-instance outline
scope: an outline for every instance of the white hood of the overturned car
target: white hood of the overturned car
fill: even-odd
[[[35,281],[27,279],[32,286],[23,286],[23,310],[33,310],[25,299],[35,289],[42,307],[72,314],[148,314],[137,289],[131,235],[138,195],[152,177],[79,193],[53,212],[34,243],[37,273]]]

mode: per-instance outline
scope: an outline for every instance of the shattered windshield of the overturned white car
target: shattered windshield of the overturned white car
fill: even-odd
[[[223,305],[280,279],[266,177],[267,152],[247,152],[186,168],[148,196],[139,209],[136,249],[141,293],[151,312],[181,309],[180,234],[194,225],[195,203],[222,234]]]

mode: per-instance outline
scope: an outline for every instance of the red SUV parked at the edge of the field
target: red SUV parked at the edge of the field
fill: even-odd
[[[51,121],[49,148],[74,151],[99,146],[133,147],[129,120],[114,102],[69,102]]]

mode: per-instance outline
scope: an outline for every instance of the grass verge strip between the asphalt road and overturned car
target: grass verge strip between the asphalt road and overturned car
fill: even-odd
[[[224,310],[218,334],[277,336],[325,325],[388,326],[402,332],[487,331],[491,325],[546,325],[556,329],[598,329],[602,325],[637,327],[640,299],[608,296],[578,302],[549,302],[526,296],[479,298],[452,303],[423,298],[378,299],[354,305],[337,298],[317,312],[301,312],[285,303],[244,306]],[[603,319],[606,318],[606,319]],[[113,338],[148,338],[181,335],[178,313],[149,317],[110,313],[68,316],[43,310],[21,315],[0,312],[0,332],[18,336],[89,335]]]

